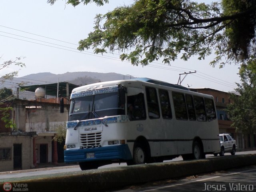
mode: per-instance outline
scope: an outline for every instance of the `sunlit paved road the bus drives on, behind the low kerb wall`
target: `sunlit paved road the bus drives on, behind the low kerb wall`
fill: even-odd
[[[237,152],[236,155],[242,154],[256,154],[256,151],[247,151],[247,152]],[[230,155],[230,153],[226,153],[225,155]],[[206,155],[206,158],[212,158],[213,155]],[[180,161],[182,157],[175,158],[170,161]],[[109,167],[116,167],[116,166],[126,166],[126,163],[121,164],[110,164],[106,166],[102,166],[101,168],[109,168]],[[0,182],[2,179],[8,178],[20,178],[26,176],[35,176],[35,175],[45,175],[45,174],[56,174],[56,173],[63,173],[63,172],[75,172],[81,171],[78,165],[73,166],[63,166],[63,167],[49,167],[49,168],[39,168],[39,169],[32,169],[32,170],[20,170],[20,171],[11,171],[11,172],[0,172]]]

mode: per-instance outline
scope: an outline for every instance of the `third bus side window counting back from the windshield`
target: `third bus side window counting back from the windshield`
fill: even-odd
[[[172,118],[172,110],[170,105],[170,99],[168,91],[159,89],[158,90],[159,98],[160,98],[160,106],[161,112],[164,119]]]

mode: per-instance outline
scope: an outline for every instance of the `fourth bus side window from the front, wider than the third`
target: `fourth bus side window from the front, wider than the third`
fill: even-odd
[[[188,120],[188,114],[187,114],[184,94],[172,92],[172,100],[173,100],[173,104],[174,104],[174,111],[175,111],[176,119]]]

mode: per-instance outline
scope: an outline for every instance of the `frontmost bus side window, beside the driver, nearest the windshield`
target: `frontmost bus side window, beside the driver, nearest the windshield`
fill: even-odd
[[[144,120],[146,119],[144,94],[127,96],[127,115],[129,120]]]

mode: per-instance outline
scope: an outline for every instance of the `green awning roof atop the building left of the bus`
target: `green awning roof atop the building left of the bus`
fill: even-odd
[[[68,92],[69,95],[71,94],[74,88],[79,87],[79,85],[74,85],[68,82],[59,82],[59,83],[52,83],[52,84],[40,84],[40,85],[30,85],[30,86],[20,86],[22,90],[35,92],[37,88],[41,87],[45,89],[46,95],[56,96],[57,97],[57,88],[59,84],[59,97],[66,97],[67,96],[67,85],[68,85]]]

